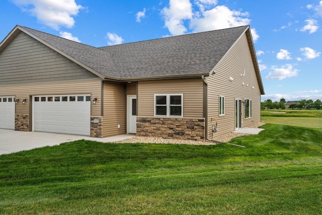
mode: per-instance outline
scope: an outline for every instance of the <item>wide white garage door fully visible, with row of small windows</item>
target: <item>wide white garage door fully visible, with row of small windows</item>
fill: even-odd
[[[33,130],[90,135],[91,96],[33,96]]]

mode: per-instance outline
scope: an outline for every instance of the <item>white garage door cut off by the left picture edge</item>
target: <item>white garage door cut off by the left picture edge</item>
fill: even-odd
[[[0,97],[0,128],[15,129],[15,97]]]

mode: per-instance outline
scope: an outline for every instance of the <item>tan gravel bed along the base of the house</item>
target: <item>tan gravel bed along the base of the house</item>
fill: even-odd
[[[265,123],[259,122],[249,126],[250,128],[258,128]],[[245,136],[245,135],[252,135],[248,133],[227,133],[219,137],[215,137],[214,140],[219,142],[228,142],[230,139],[238,137],[238,136]],[[146,137],[146,136],[135,136],[128,139],[123,139],[119,141],[114,141],[113,143],[116,144],[187,144],[187,145],[216,145],[218,142],[212,141],[195,141],[195,140],[183,140],[183,139],[164,139],[158,137]]]

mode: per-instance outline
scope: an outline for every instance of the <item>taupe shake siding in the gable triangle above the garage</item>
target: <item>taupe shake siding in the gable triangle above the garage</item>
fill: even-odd
[[[23,32],[0,53],[0,76],[0,85],[97,78]]]

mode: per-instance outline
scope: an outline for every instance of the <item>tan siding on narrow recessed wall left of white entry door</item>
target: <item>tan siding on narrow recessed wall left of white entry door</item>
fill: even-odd
[[[126,133],[126,85],[115,82],[103,82],[104,111],[103,136]],[[120,125],[120,128],[117,126]]]

